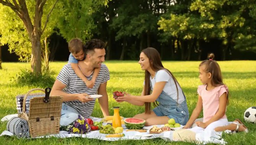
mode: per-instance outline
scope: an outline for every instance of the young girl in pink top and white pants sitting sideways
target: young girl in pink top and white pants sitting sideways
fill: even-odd
[[[213,60],[214,54],[209,55],[209,60],[204,60],[199,64],[199,79],[203,85],[198,87],[198,102],[189,121],[183,128],[190,128],[196,118],[199,116],[203,108],[203,122],[196,121],[197,126],[191,130],[199,132],[201,130],[223,131],[227,128],[235,130],[237,127],[245,130],[246,127],[241,121],[234,121],[231,126],[228,126],[227,116],[225,114],[228,104],[228,87],[222,81],[222,75],[219,64]],[[226,126],[226,127],[223,127]],[[217,128],[216,128],[217,127]]]

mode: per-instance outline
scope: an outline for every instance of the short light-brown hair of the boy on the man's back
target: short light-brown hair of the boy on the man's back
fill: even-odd
[[[79,38],[73,38],[68,42],[68,50],[71,53],[79,53],[83,50],[83,41]]]

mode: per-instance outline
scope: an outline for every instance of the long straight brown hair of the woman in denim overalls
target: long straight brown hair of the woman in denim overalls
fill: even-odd
[[[177,79],[173,76],[173,74],[166,68],[164,68],[160,54],[159,52],[152,47],[148,47],[146,49],[143,49],[141,52],[143,52],[147,58],[149,58],[149,64],[153,71],[159,71],[161,69],[165,69],[170,76],[174,79],[176,90],[177,90],[177,100],[178,100],[178,86],[177,86]],[[144,85],[144,94],[143,95],[150,95],[151,93],[151,85],[150,85],[150,73],[145,70],[145,85]],[[157,101],[154,102],[154,106],[157,106]],[[145,102],[145,113],[149,114],[151,113],[151,102]]]

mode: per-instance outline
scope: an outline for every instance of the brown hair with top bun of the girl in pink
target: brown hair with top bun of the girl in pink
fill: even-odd
[[[212,74],[211,85],[214,86],[214,87],[217,87],[219,85],[224,85],[224,83],[223,83],[223,79],[222,79],[222,74],[221,74],[220,66],[213,59],[214,59],[214,54],[210,53],[208,55],[208,60],[202,61],[199,64],[199,67],[205,65],[205,70],[204,71],[206,73],[211,73]],[[229,92],[227,92],[227,105],[229,103],[228,96],[229,96]]]

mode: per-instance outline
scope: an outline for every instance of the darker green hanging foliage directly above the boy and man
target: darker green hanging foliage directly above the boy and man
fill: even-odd
[[[90,39],[91,29],[95,27],[91,15],[107,3],[108,0],[62,0],[56,23],[60,34],[67,42],[74,37]]]

